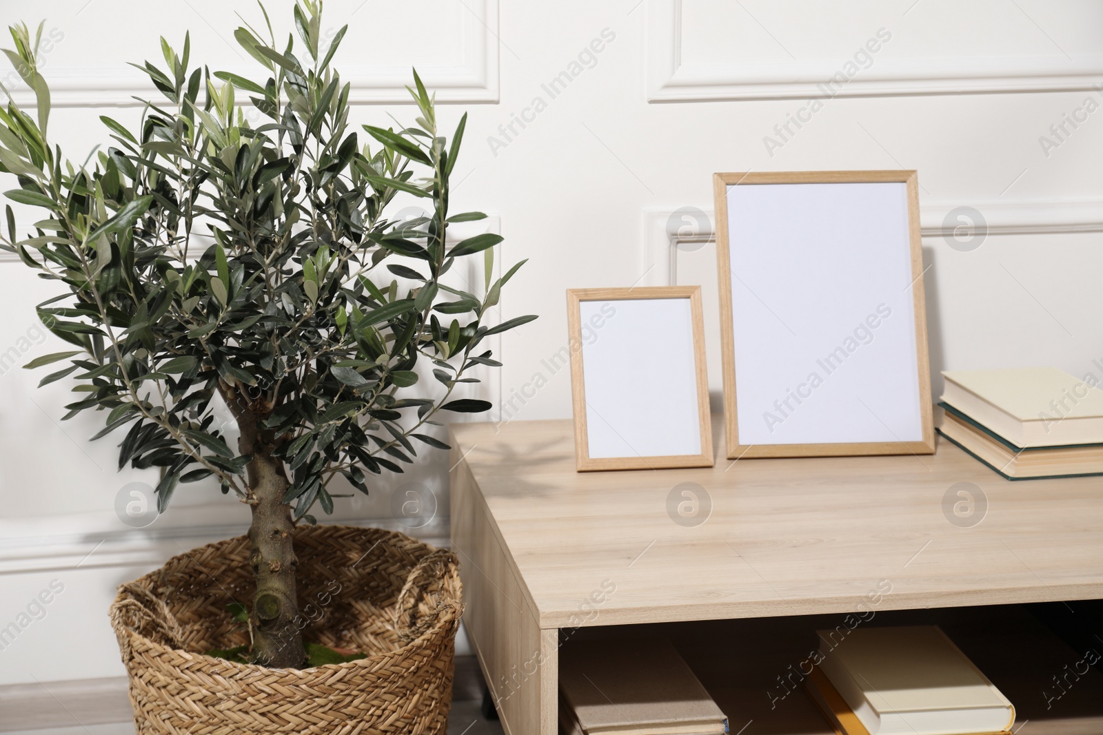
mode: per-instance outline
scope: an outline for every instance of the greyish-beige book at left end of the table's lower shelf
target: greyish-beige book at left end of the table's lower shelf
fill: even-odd
[[[578,640],[559,650],[565,735],[724,735],[727,718],[666,640]]]

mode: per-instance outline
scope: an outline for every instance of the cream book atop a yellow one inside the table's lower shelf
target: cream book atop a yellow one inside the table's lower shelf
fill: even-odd
[[[808,693],[840,735],[1009,733],[1015,707],[938,626],[821,630]]]

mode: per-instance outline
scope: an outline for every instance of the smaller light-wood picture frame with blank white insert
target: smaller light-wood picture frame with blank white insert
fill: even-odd
[[[711,467],[700,287],[567,292],[579,472]]]

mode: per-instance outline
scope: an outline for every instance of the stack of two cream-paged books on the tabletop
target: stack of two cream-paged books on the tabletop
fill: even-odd
[[[1008,479],[1103,474],[1103,390],[1051,367],[954,370],[939,432]]]

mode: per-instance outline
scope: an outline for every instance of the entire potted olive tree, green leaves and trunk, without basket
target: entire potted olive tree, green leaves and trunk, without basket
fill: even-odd
[[[66,287],[39,315],[74,347],[26,367],[67,363],[42,383],[75,381],[65,418],[101,411],[95,437],[121,436],[120,469],[160,469],[160,511],[207,477],[249,505],[251,657],[281,668],[307,660],[296,525],[315,522],[315,506],[333,511],[334,479],[367,493],[371,475],[401,472],[419,447],[448,448],[425,428],[438,411],[488,410],[451,394],[471,368],[501,365],[486,337],[535,318],[494,324],[522,264],[492,278],[501,237],[448,238],[485,217],[449,210],[467,116],[448,140],[415,73],[411,125],[353,129],[350,86],[331,66],[347,26],[323,46],[321,11],[297,2],[286,42],[267,13],[261,30],[235,31],[255,78],[192,66],[188,35],[180,53],[162,39],[164,65],[139,66],[160,98],[132,129],[101,117],[111,140],[83,165],[47,134],[41,25],[12,26],[6,52],[36,109],[0,110],[0,170],[19,182],[7,197],[41,210],[21,236],[8,206],[0,247]],[[395,219],[399,194],[427,216]],[[447,285],[476,253],[482,295]],[[416,385],[427,360],[433,379]]]

